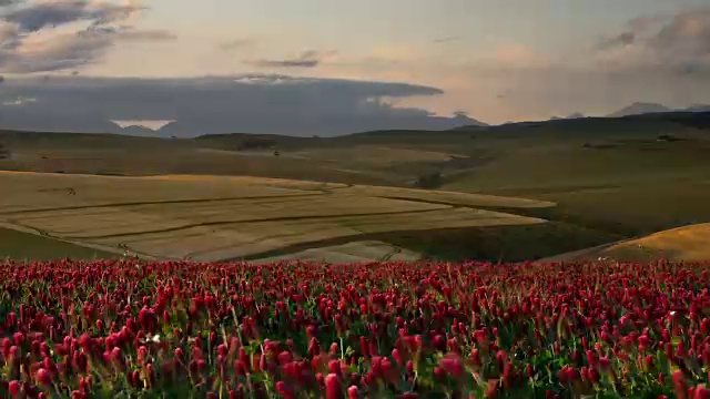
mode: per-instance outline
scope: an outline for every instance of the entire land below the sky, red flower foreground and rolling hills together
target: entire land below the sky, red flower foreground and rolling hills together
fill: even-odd
[[[0,133],[0,398],[710,398],[683,117]]]

